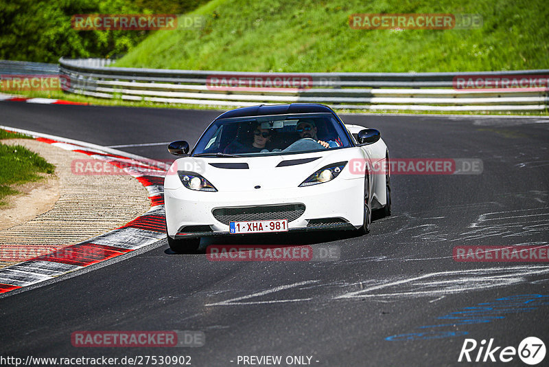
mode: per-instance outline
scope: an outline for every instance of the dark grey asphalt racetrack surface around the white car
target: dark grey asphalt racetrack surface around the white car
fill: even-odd
[[[0,124],[170,159],[219,111],[3,102]],[[311,357],[312,366],[456,366],[466,338],[549,342],[547,262],[457,262],[456,246],[547,245],[549,118],[341,115],[379,129],[393,158],[482,159],[480,175],[393,175],[393,216],[371,232],[209,243],[334,245],[323,262],[212,262],[159,247],[0,298],[2,355]],[[326,198],[326,205],[329,205]],[[202,247],[206,241],[202,241]],[[76,348],[75,331],[202,331],[197,348]],[[488,344],[488,342],[485,342]],[[482,353],[481,358],[484,358]],[[488,357],[489,358],[489,357]],[[307,362],[309,359],[303,359]],[[488,359],[489,360],[489,359]],[[549,356],[539,364],[548,365]],[[489,365],[501,365],[487,363]],[[259,364],[255,364],[259,366]],[[265,364],[263,364],[265,365]],[[286,366],[287,364],[281,364]],[[293,364],[294,366],[299,364]],[[517,355],[507,366],[525,366]]]

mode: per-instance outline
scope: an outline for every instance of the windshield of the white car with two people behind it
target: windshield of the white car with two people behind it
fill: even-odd
[[[347,148],[349,138],[331,113],[270,115],[216,120],[193,155],[280,155]]]

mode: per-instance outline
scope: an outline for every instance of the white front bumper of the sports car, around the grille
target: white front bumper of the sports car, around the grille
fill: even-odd
[[[350,230],[363,223],[363,197],[364,179],[334,179],[307,187],[242,192],[202,192],[181,186],[164,191],[167,233],[172,238],[229,235],[229,225],[218,221],[213,210],[281,204],[305,206],[303,214],[288,222],[291,232]],[[200,226],[200,230],[186,231],[189,226]]]

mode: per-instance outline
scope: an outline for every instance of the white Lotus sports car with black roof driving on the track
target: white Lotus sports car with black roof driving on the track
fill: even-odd
[[[244,107],[222,113],[165,177],[167,241],[191,252],[204,236],[370,230],[390,214],[388,148],[379,131],[345,125],[321,104]]]

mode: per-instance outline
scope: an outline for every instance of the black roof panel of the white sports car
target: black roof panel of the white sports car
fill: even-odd
[[[287,115],[294,113],[334,113],[331,108],[324,104],[314,103],[292,103],[292,104],[260,104],[258,106],[242,107],[226,111],[218,116],[220,118],[243,118],[249,116]]]

